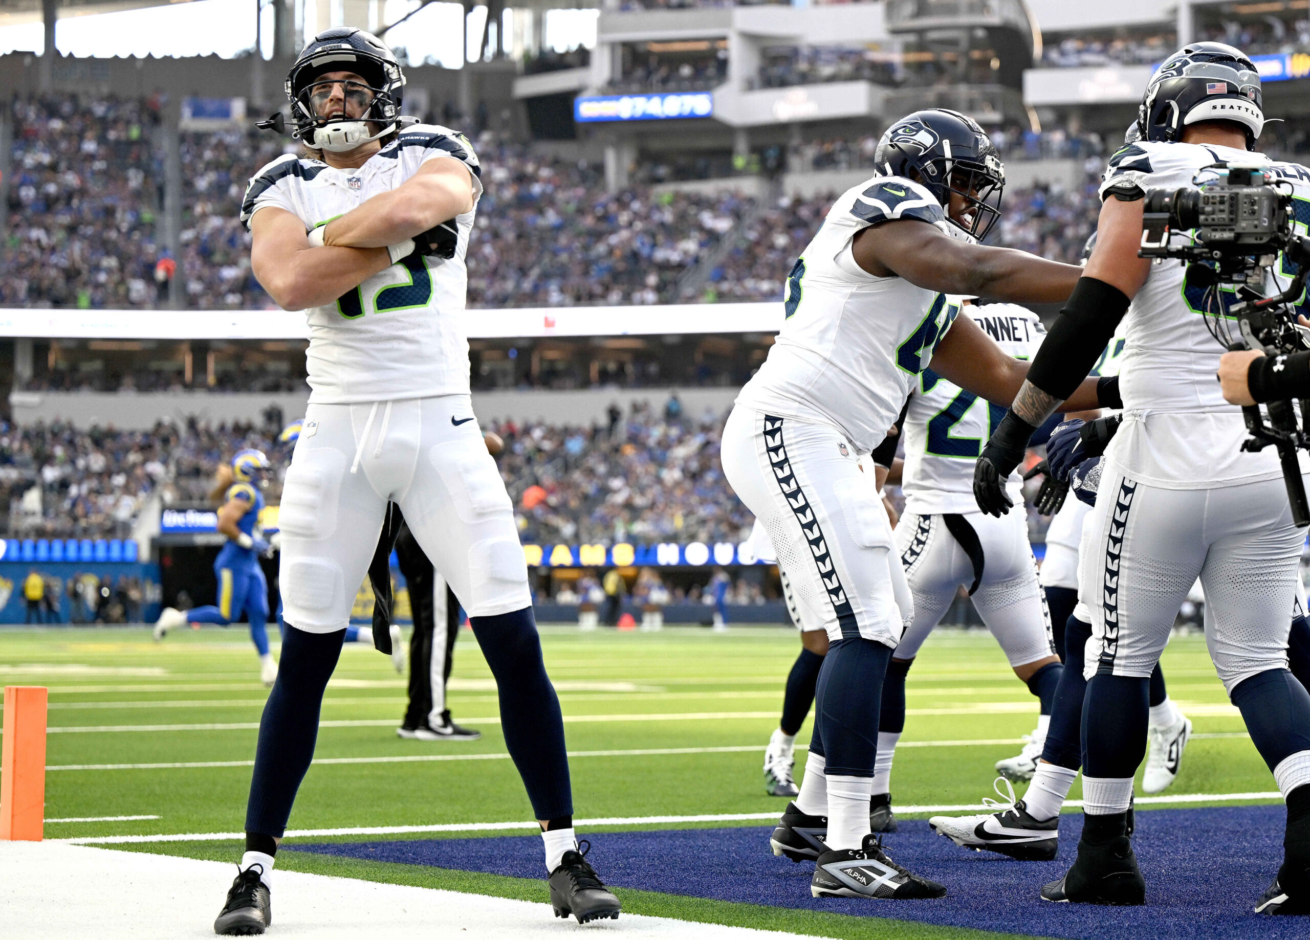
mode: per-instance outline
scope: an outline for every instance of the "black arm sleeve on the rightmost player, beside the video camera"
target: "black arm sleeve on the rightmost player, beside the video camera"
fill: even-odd
[[[1079,278],[1032,360],[1028,381],[1061,401],[1072,395],[1114,338],[1128,304],[1117,287]]]

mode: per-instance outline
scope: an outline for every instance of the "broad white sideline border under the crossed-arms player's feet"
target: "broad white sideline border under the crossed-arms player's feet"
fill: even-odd
[[[4,842],[4,935],[25,940],[212,940],[214,918],[234,871],[221,861]],[[546,940],[576,937],[579,930],[571,918],[557,920],[549,905],[531,901],[308,872],[279,871],[272,878],[271,935],[278,937]],[[69,890],[52,888],[59,885]],[[638,914],[588,924],[586,932],[634,940],[800,940],[794,933]]]

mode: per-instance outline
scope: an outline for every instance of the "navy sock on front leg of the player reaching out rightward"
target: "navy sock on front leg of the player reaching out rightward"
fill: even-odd
[[[828,647],[815,690],[815,727],[823,725],[828,776],[874,775],[878,758],[878,712],[883,677],[892,651],[863,638]]]

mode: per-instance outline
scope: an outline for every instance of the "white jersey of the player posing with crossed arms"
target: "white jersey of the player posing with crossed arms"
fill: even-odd
[[[291,212],[307,230],[394,190],[428,160],[458,160],[473,174],[474,209],[456,217],[458,244],[448,259],[421,255],[392,264],[325,306],[307,310],[310,403],[376,402],[469,393],[464,329],[464,255],[482,195],[477,154],[462,134],[415,124],[359,169],[282,156],[246,187],[241,221],[266,206]]]

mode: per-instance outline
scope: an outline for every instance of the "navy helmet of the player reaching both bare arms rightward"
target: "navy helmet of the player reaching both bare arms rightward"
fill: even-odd
[[[959,111],[929,107],[905,115],[878,141],[874,162],[886,175],[926,186],[943,209],[950,209],[952,192],[964,196],[969,224],[951,223],[979,241],[1001,217],[1001,154],[986,131]]]

